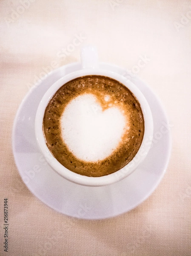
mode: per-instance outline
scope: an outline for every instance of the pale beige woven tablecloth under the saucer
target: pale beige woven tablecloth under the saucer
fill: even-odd
[[[154,193],[130,212],[97,221],[73,219],[36,198],[11,146],[29,89],[51,70],[80,61],[84,44],[97,47],[100,61],[146,81],[172,126],[171,159]],[[1,0],[0,122],[0,255],[191,255],[191,1]]]

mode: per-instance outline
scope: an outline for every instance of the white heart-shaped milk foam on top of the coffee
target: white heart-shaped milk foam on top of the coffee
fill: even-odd
[[[105,96],[105,101],[109,97]],[[91,93],[72,99],[61,117],[61,133],[68,149],[80,160],[96,162],[108,157],[119,145],[126,118],[120,108],[106,110]]]

